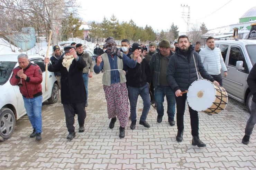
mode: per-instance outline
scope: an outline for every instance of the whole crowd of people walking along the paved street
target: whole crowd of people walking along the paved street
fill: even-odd
[[[143,44],[130,44],[128,39],[121,41],[121,49],[117,48],[116,40],[112,37],[106,39],[106,44],[100,48],[96,44],[94,56],[97,58],[94,65],[88,53],[83,51],[83,45],[72,43],[64,47],[53,47],[51,58],[45,58],[48,71],[54,72],[61,89],[61,103],[63,104],[66,127],[69,132],[67,139],[75,137],[74,117],[77,114],[79,132],[84,132],[84,120],[88,107],[88,81],[93,72],[103,72],[102,84],[107,101],[108,118],[111,119],[109,128],[115,127],[117,119],[120,122],[119,137],[125,137],[125,128],[130,115],[130,129],[136,128],[137,100],[143,100],[143,110],[139,124],[150,128],[146,121],[150,104],[155,104],[157,111],[156,121],[161,123],[164,116],[164,97],[167,100],[167,116],[170,126],[175,126],[175,106],[178,142],[183,141],[184,112],[186,106],[186,93],[190,85],[200,76],[215,84],[222,86],[221,70],[228,76],[221,51],[215,47],[214,38],[208,37],[207,46],[200,49],[201,43],[197,41],[195,47],[189,37],[179,36],[171,44],[162,40],[158,46],[155,42],[149,43],[149,50]],[[19,67],[13,70],[10,82],[16,86],[20,79],[25,86],[20,87],[25,108],[33,127],[30,137],[41,140],[42,133],[42,71],[29,62],[26,54],[18,56]],[[90,69],[89,69],[90,68]],[[198,71],[198,72],[197,72]],[[250,72],[247,82],[250,90],[256,93],[256,66]],[[130,114],[129,114],[130,108]],[[191,120],[192,145],[205,147],[199,138],[198,111],[189,106]],[[249,143],[254,124],[256,123],[256,96],[253,98],[252,113],[245,128],[244,144]]]

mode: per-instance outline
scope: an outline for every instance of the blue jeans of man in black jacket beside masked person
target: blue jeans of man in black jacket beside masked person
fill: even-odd
[[[130,86],[128,87],[129,96],[130,96],[131,121],[136,120],[136,106],[137,106],[137,101],[138,101],[139,95],[143,100],[143,110],[142,110],[142,114],[140,116],[140,120],[143,122],[146,121],[148,111],[150,109],[150,104],[151,104],[148,88],[149,88],[148,83],[141,88],[130,87]]]

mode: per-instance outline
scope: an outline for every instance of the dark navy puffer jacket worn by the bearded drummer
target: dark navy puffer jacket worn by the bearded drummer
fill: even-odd
[[[195,56],[197,70],[200,72],[201,76],[211,82],[214,81],[211,75],[204,69],[201,57],[195,52],[194,47],[190,46],[189,48],[189,61],[181,54],[180,49],[176,49],[175,54],[171,56],[168,63],[166,80],[174,92],[179,89],[181,91],[188,90],[190,84],[198,79],[193,54]]]

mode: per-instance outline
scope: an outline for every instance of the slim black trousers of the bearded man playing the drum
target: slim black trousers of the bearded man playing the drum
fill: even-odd
[[[184,129],[184,112],[186,107],[186,99],[187,93],[182,94],[182,96],[176,97],[176,107],[177,107],[177,128],[178,130]],[[199,103],[200,104],[200,103]],[[192,136],[199,135],[199,118],[198,112],[194,111],[189,107],[189,114],[190,114],[190,124],[191,124],[191,134]]]

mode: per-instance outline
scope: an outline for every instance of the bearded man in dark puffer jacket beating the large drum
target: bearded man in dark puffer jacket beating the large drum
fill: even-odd
[[[176,49],[176,53],[171,57],[168,63],[166,80],[175,91],[176,108],[177,108],[177,136],[176,140],[182,142],[183,130],[184,130],[184,112],[186,104],[186,93],[181,94],[182,91],[188,90],[191,83],[198,79],[195,64],[197,70],[204,79],[210,80],[216,84],[217,81],[211,77],[210,74],[204,69],[201,62],[200,55],[195,52],[194,47],[189,46],[188,36],[182,35],[178,38],[179,48]],[[193,59],[195,58],[195,62]],[[198,103],[200,104],[200,103]],[[198,112],[189,107],[191,133],[193,136],[192,145],[198,147],[206,147],[206,144],[199,139],[199,118]]]

